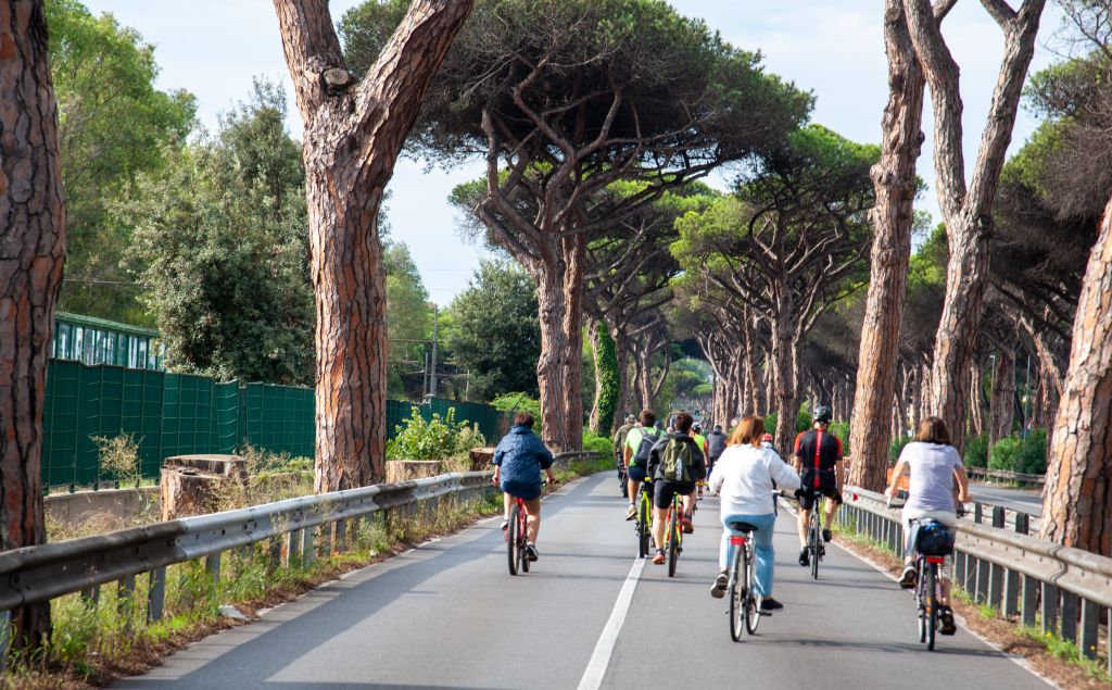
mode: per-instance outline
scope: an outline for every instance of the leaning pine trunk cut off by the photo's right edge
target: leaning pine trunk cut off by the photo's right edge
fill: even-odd
[[[1043,491],[1042,536],[1112,556],[1112,200],[1089,257]]]

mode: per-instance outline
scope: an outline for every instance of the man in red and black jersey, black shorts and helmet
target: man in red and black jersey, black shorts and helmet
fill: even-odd
[[[823,541],[831,540],[831,524],[834,511],[842,504],[842,442],[827,432],[833,413],[826,405],[818,405],[812,415],[814,428],[795,437],[792,464],[803,477],[803,495],[800,497],[800,565],[810,565],[807,555],[807,525],[811,510],[818,496],[826,496],[826,520],[823,524]]]

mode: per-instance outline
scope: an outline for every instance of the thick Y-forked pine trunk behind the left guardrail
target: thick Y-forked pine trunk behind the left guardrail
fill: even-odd
[[[316,293],[318,492],[385,477],[386,275],[378,209],[421,98],[471,0],[415,0],[363,80],[327,0],[275,0],[305,121]]]

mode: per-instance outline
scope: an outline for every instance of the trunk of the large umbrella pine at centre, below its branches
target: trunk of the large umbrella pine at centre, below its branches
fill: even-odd
[[[549,235],[550,236],[550,235]],[[534,265],[540,316],[540,416],[554,451],[583,447],[583,235],[553,237],[546,262]]]

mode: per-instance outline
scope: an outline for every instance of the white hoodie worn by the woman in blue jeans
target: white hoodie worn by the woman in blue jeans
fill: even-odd
[[[773,482],[782,490],[800,487],[800,475],[776,451],[732,445],[714,463],[708,485],[722,496],[723,515],[765,515],[773,512]]]

